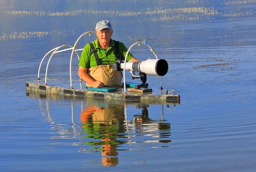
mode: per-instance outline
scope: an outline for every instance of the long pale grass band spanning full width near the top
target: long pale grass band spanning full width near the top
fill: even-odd
[[[107,17],[140,17],[139,20],[151,22],[164,22],[164,21],[193,21],[206,19],[210,20],[214,17],[234,17],[254,16],[255,11],[249,9],[247,11],[240,11],[239,9],[230,9],[225,11],[218,11],[217,9],[206,7],[189,7],[189,8],[146,8],[138,11],[135,10],[88,10],[88,9],[75,9],[65,11],[0,11],[0,14],[9,15],[11,17],[63,17],[63,16],[107,16]],[[151,17],[154,16],[154,17]],[[141,17],[143,17],[141,19]]]

